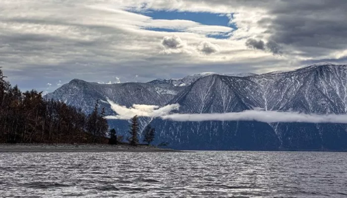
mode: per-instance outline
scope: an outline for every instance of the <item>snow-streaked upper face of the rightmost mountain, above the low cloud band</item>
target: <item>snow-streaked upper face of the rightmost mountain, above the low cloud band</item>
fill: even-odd
[[[268,110],[305,113],[347,112],[347,66],[317,64],[302,69],[251,76],[262,88]]]

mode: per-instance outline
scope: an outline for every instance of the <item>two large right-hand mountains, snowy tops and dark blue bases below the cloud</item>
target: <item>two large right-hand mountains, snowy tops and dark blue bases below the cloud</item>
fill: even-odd
[[[318,64],[245,78],[197,80],[170,103],[178,113],[239,112],[255,107],[318,114],[346,113],[347,66]],[[161,141],[186,149],[346,149],[347,125],[154,120]]]

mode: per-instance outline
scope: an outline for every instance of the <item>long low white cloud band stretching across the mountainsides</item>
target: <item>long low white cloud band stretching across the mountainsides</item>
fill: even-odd
[[[179,122],[201,121],[258,121],[265,123],[300,122],[300,123],[343,123],[347,124],[347,114],[304,114],[299,112],[264,111],[260,109],[231,113],[197,113],[172,114],[179,109],[179,104],[169,104],[163,107],[155,105],[133,104],[131,107],[121,106],[108,100],[116,116],[107,119],[128,120],[135,115],[140,117],[161,118]]]

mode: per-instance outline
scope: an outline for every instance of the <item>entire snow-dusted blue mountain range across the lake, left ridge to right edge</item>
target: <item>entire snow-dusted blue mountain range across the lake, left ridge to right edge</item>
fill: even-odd
[[[289,72],[240,77],[204,73],[183,79],[114,85],[73,80],[47,97],[82,107],[86,112],[92,110],[96,99],[109,98],[126,106],[179,103],[176,113],[225,113],[264,108],[344,114],[347,111],[347,65],[324,63]],[[110,105],[103,105],[109,109],[109,114],[114,114]],[[159,118],[143,118],[141,122],[142,127],[151,123],[157,129],[156,143],[169,142],[171,148],[347,149],[346,124],[176,122]],[[110,125],[119,133],[126,133],[127,121],[113,120]]]

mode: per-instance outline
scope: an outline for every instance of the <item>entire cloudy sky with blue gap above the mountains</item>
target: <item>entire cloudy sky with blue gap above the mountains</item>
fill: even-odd
[[[0,66],[22,90],[347,63],[346,0],[1,0]]]

